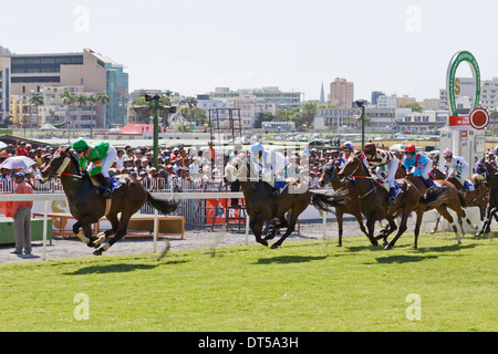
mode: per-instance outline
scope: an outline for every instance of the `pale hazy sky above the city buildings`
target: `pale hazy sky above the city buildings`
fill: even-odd
[[[22,7],[22,9],[21,9]],[[330,82],[437,98],[452,56],[498,77],[495,0],[66,0],[9,1],[0,45],[17,54],[82,52],[123,64],[129,91],[186,96],[215,87],[278,86],[319,100]],[[460,66],[459,76],[470,76]]]

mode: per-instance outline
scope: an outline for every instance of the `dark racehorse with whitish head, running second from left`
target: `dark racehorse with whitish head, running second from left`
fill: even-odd
[[[332,195],[315,194],[305,190],[300,186],[300,192],[290,192],[288,186],[279,197],[272,196],[272,188],[266,181],[260,181],[259,177],[251,177],[251,165],[247,156],[240,154],[225,168],[225,180],[227,183],[240,181],[240,188],[246,198],[247,214],[250,217],[249,227],[255,235],[256,241],[263,246],[268,246],[268,240],[274,238],[276,231],[287,227],[286,233],[274,242],[271,248],[279,248],[282,242],[294,231],[298,217],[311,204],[322,211],[331,211],[330,207],[338,207],[345,200],[343,192],[334,192]],[[278,198],[278,199],[276,199]],[[290,211],[289,221],[286,214]],[[279,225],[269,232],[267,237],[261,238],[263,223],[269,220],[279,219]]]

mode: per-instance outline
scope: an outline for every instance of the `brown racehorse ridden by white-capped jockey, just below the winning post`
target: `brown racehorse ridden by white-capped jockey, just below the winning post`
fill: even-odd
[[[460,196],[459,199],[460,199],[461,207],[464,207],[464,208],[479,207],[480,220],[481,221],[484,220],[485,215],[486,215],[486,208],[488,205],[488,189],[484,183],[477,181],[475,178],[469,178],[469,180],[474,184],[475,190],[463,191],[463,187],[458,180],[456,180],[453,177],[449,177],[449,178],[446,177],[446,175],[443,174],[437,167],[433,168],[433,174],[437,180],[439,180],[439,181],[447,180],[452,185],[455,186],[455,188],[457,189],[457,191]],[[457,215],[458,215],[458,212],[457,212]],[[437,231],[437,228],[438,228],[439,221],[440,221],[440,217],[442,217],[442,215],[439,212],[439,215],[437,216],[437,219],[436,219],[436,225],[434,226],[434,229],[430,231],[430,233],[435,233]],[[460,218],[459,215],[458,215],[458,218]],[[445,217],[445,219],[447,219],[447,218]],[[461,226],[463,222],[460,219],[458,219],[458,222]],[[474,226],[471,223],[469,223],[469,225],[473,229],[477,230],[476,226]],[[461,233],[464,237],[464,229],[461,229]]]

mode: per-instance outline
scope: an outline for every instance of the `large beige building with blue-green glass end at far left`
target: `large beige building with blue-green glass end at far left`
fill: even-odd
[[[105,92],[111,98],[96,111],[96,126],[111,127],[126,122],[128,74],[123,65],[85,49],[80,53],[10,54],[10,95],[29,95],[45,86],[81,86],[84,92]]]

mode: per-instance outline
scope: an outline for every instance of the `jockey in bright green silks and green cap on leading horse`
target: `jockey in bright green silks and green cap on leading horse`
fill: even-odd
[[[105,187],[104,197],[111,199],[113,187],[108,169],[117,156],[114,146],[108,143],[89,146],[89,144],[82,139],[73,144],[73,150],[79,157],[80,169],[83,171],[86,168],[89,176],[100,178],[102,185]],[[86,166],[87,163],[90,163],[89,166]]]

